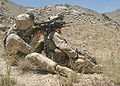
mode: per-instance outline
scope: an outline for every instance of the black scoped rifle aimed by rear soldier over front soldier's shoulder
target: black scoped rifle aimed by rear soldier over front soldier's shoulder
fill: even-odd
[[[34,23],[34,26],[36,28],[33,28],[29,33],[27,33],[28,35],[34,35],[35,32],[37,31],[50,31],[52,29],[55,28],[62,28],[64,27],[65,22],[63,22],[63,16],[59,15],[59,16],[55,16],[53,19],[48,18],[49,20],[47,22],[42,21],[41,23]]]

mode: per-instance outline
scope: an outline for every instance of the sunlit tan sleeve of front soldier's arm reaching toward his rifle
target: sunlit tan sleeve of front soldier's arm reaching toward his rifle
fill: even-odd
[[[53,35],[53,41],[55,45],[65,52],[69,57],[76,58],[78,54],[76,53],[75,49],[73,49],[64,38],[60,36],[57,32]]]

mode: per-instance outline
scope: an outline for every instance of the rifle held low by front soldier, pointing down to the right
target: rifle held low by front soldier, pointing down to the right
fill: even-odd
[[[86,57],[86,60],[88,62],[90,62],[92,65],[97,65],[97,61],[95,58],[91,57],[90,55],[88,55],[87,53],[85,53],[84,51],[80,51],[78,49],[76,49],[76,52],[79,54],[79,55],[83,55]]]

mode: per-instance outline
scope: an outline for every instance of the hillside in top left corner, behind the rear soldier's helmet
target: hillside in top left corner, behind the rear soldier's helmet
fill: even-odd
[[[0,24],[13,24],[15,16],[26,8],[8,0],[0,0]]]

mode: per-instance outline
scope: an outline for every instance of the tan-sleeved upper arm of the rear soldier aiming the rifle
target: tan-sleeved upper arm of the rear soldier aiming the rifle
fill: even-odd
[[[17,53],[18,51],[26,54],[31,53],[32,48],[16,34],[11,34],[6,39],[5,51],[7,54]]]

